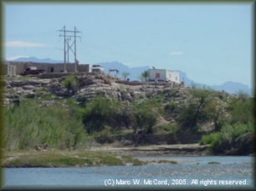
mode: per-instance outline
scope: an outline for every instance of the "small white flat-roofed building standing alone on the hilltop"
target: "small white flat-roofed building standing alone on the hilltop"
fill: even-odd
[[[180,83],[180,73],[172,70],[166,69],[149,69],[149,80],[155,81],[172,81],[175,83]]]

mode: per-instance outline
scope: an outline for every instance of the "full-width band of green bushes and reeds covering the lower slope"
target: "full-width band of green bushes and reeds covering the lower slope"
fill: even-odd
[[[142,74],[141,74],[142,75]],[[142,75],[147,78],[146,73]],[[73,94],[77,91],[74,76],[62,85]],[[177,89],[168,93],[140,97],[130,104],[97,96],[82,107],[73,98],[44,100],[23,98],[18,106],[4,109],[5,148],[31,149],[38,143],[53,148],[88,148],[94,137],[110,138],[124,129],[132,133],[207,133],[201,144],[211,144],[212,152],[223,152],[245,133],[253,132],[254,99],[239,92],[228,98],[207,88],[187,89],[187,100],[173,102]],[[52,98],[50,98],[52,99]],[[157,124],[159,117],[174,123]],[[211,129],[204,129],[211,123]]]

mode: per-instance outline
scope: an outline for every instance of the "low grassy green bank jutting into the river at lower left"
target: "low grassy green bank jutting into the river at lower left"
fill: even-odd
[[[88,167],[114,165],[141,165],[143,162],[130,155],[105,151],[44,150],[5,152],[2,167]]]

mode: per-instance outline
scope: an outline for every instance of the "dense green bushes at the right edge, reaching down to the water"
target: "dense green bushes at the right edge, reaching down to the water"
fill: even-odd
[[[238,98],[233,98],[228,104],[230,118],[223,118],[222,125],[217,132],[202,137],[201,144],[211,144],[213,153],[223,153],[238,145],[239,138],[246,133],[254,132],[254,99],[248,98],[243,92],[238,93]],[[240,141],[241,142],[241,141]]]

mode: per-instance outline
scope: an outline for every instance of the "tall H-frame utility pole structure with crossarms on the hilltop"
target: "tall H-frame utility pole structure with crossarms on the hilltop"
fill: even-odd
[[[67,72],[66,71],[66,53],[68,53],[68,60],[69,60],[69,49],[71,49],[71,51],[74,53],[74,72],[77,72],[78,61],[76,59],[76,38],[81,38],[81,37],[76,36],[76,33],[81,33],[81,32],[79,32],[75,27],[74,27],[74,31],[67,31],[67,30],[65,30],[65,26],[64,26],[64,28],[62,30],[59,30],[59,31],[60,32],[64,32],[64,35],[59,35],[59,37],[64,37],[64,72]],[[74,36],[66,35],[66,33],[74,33]],[[71,46],[69,46],[69,40],[72,37],[74,37],[74,42],[72,43]],[[74,51],[72,49],[73,44],[74,44]],[[68,47],[67,52],[66,52],[66,45]]]

